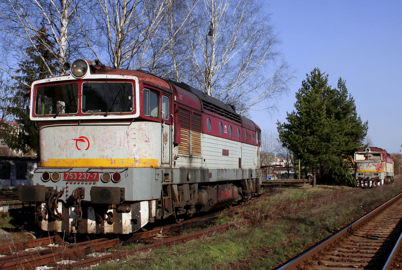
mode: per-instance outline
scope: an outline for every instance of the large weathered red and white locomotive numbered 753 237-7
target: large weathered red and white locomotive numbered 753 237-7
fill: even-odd
[[[31,89],[40,166],[21,201],[48,231],[131,233],[260,193],[260,128],[184,83],[98,61]]]

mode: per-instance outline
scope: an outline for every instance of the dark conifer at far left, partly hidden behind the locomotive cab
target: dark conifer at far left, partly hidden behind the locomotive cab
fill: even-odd
[[[8,147],[29,153],[39,151],[38,126],[29,119],[29,105],[31,99],[31,84],[38,79],[49,77],[48,67],[55,67],[56,57],[48,48],[55,47],[50,41],[45,25],[42,24],[34,38],[35,46],[28,47],[25,52],[28,61],[21,61],[16,71],[16,95],[15,107],[11,108],[18,123],[17,130],[10,132],[8,138],[4,138]],[[53,71],[57,73],[56,71]]]

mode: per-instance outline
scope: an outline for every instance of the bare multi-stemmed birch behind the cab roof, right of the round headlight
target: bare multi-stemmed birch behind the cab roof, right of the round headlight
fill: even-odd
[[[98,0],[94,16],[103,29],[114,68],[152,67],[163,44],[159,28],[171,10],[173,0]],[[151,51],[151,53],[150,53]]]

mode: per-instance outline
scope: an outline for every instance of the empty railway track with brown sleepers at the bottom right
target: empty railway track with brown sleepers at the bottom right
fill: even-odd
[[[277,270],[402,269],[402,193]]]

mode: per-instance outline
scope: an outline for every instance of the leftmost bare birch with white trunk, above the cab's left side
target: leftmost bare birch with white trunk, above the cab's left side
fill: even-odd
[[[4,43],[3,53],[7,54],[6,61],[3,62],[1,69],[13,76],[13,67],[7,63],[23,61],[27,55],[25,49],[33,47],[38,55],[41,51],[37,46],[35,37],[41,36],[40,30],[45,26],[49,39],[57,46],[47,47],[45,42],[40,46],[51,50],[57,59],[57,66],[50,66],[47,59],[42,57],[42,61],[47,66],[50,75],[63,73],[62,65],[72,55],[82,55],[84,47],[87,50],[90,44],[86,39],[85,30],[82,27],[79,16],[86,9],[90,8],[90,0],[1,0],[0,1],[0,31],[3,38],[8,41]],[[84,43],[84,46],[82,45]],[[43,50],[43,49],[42,49]],[[14,60],[15,59],[15,60]],[[14,60],[14,61],[13,61]]]

